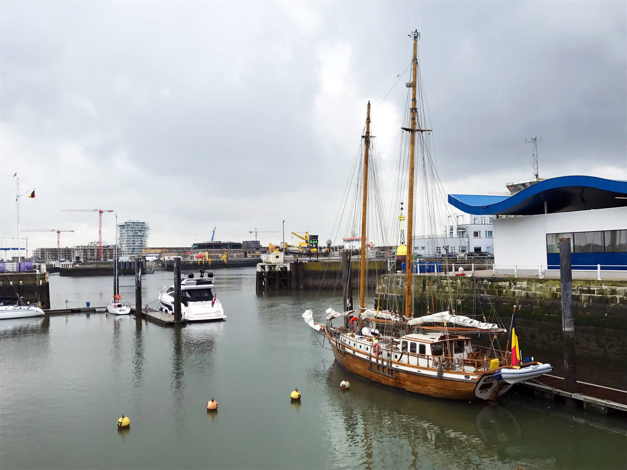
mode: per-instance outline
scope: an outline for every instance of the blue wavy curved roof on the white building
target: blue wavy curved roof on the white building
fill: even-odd
[[[448,202],[468,214],[530,216],[627,206],[627,181],[594,176],[560,176],[531,185],[514,196],[449,194]]]

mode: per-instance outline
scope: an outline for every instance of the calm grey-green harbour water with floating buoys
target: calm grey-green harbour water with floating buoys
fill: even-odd
[[[171,278],[145,276],[144,303]],[[216,273],[222,323],[3,320],[0,468],[627,467],[616,417],[517,394],[497,407],[430,399],[344,372],[301,318],[328,294],[256,296],[254,280],[254,269]],[[122,278],[127,301],[133,282]],[[50,284],[53,308],[103,306],[112,291],[108,278]],[[212,397],[219,411],[207,414]],[[119,432],[123,413],[131,426]]]

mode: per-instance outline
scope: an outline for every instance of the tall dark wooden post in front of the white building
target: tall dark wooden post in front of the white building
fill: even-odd
[[[559,239],[559,280],[562,286],[562,334],[564,337],[564,387],[577,392],[575,322],[572,316],[571,239]]]

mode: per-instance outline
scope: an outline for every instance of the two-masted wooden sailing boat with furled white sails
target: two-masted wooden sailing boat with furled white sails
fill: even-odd
[[[409,133],[409,184],[407,206],[408,247],[413,235],[414,211],[414,157],[416,133],[428,132],[419,126],[416,108],[416,82],[418,78],[418,31],[413,38],[413,63],[411,85],[411,122],[403,127]],[[495,323],[478,321],[455,315],[455,310],[443,311],[414,318],[412,311],[412,250],[406,253],[404,316],[389,311],[367,309],[366,297],[366,214],[368,191],[370,134],[370,103],[366,113],[364,136],[364,179],[362,200],[361,262],[359,271],[359,308],[338,313],[327,310],[327,323],[315,323],[311,310],[303,313],[305,322],[329,340],[335,359],[349,372],[360,377],[417,394],[458,400],[495,400],[515,383],[504,379],[514,371],[526,379],[552,370],[550,365],[537,362],[519,363],[512,367],[507,351],[472,344],[471,333],[496,335],[507,330]],[[342,318],[343,317],[343,318]],[[341,326],[333,320],[342,318]],[[507,348],[506,348],[507,349]],[[497,372],[495,374],[495,372]],[[524,380],[524,379],[523,379]]]

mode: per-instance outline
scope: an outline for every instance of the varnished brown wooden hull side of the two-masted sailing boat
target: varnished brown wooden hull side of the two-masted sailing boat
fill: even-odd
[[[415,394],[429,395],[430,397],[446,398],[451,400],[478,400],[475,396],[477,382],[463,382],[457,380],[438,379],[436,377],[426,377],[403,370],[378,367],[380,372],[373,370],[376,367],[369,367],[369,362],[362,358],[337,350],[334,343],[331,343],[335,360],[346,370],[364,377],[364,379],[388,385],[396,389],[406,390]],[[389,372],[389,373],[382,373]]]

